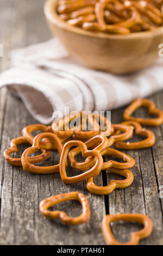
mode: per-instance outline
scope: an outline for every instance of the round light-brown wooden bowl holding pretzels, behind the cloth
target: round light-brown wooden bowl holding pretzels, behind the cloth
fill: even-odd
[[[68,25],[57,14],[58,0],[47,0],[44,11],[48,25],[79,63],[92,69],[127,74],[146,68],[159,57],[163,27],[128,35],[84,31]]]

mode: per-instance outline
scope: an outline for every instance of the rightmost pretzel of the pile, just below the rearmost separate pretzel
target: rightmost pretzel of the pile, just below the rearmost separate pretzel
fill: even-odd
[[[114,146],[118,149],[143,149],[152,147],[155,143],[155,135],[153,131],[142,128],[142,126],[135,121],[124,121],[124,125],[131,125],[135,128],[135,133],[140,136],[147,137],[140,142],[115,142]],[[117,131],[118,132],[118,131]]]

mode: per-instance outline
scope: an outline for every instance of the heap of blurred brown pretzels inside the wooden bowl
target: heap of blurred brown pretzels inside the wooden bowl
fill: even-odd
[[[57,11],[86,31],[129,34],[163,25],[162,0],[59,0]]]

